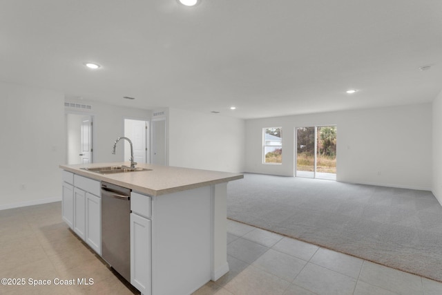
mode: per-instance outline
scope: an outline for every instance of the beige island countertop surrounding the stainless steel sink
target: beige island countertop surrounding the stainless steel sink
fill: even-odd
[[[95,180],[103,180],[122,187],[127,187],[133,191],[146,193],[150,196],[160,196],[166,193],[186,191],[206,187],[211,184],[219,184],[244,178],[238,173],[209,171],[200,169],[188,169],[172,166],[161,166],[153,164],[137,164],[137,167],[152,169],[151,171],[136,171],[128,173],[100,174],[81,168],[101,167],[101,166],[130,166],[130,162],[93,163],[60,165],[61,169],[83,175]]]

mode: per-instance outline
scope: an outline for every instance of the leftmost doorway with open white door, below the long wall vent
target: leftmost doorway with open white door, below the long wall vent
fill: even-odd
[[[93,116],[66,113],[66,163],[93,162]]]

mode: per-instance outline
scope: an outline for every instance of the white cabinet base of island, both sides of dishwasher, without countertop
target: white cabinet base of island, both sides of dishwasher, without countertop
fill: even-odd
[[[63,219],[101,256],[101,183],[65,172]],[[221,234],[225,247],[225,223],[214,231],[213,220],[225,220],[225,197],[221,212],[214,208],[216,191],[206,186],[161,196],[131,192],[131,284],[142,294],[192,294],[228,271],[227,251],[215,249],[213,238]],[[224,256],[215,256],[215,250]]]

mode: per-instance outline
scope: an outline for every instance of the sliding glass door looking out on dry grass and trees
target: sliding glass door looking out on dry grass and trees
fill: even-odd
[[[296,128],[295,176],[336,180],[336,126]]]

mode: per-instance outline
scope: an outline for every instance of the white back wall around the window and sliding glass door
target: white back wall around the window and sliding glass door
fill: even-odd
[[[294,131],[336,125],[337,180],[431,189],[432,106],[419,104],[246,122],[246,171],[294,175]],[[262,128],[282,126],[282,164],[262,164]]]

